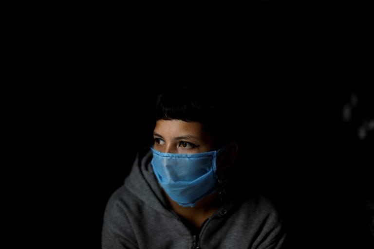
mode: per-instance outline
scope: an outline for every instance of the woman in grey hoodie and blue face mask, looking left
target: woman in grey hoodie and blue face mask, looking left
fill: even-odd
[[[187,88],[158,97],[154,144],[108,202],[103,249],[281,248],[272,204],[233,184],[234,122],[213,100]]]

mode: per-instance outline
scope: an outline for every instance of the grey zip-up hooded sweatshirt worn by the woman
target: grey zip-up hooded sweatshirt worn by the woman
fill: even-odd
[[[102,249],[280,249],[281,220],[264,197],[228,200],[198,233],[169,208],[150,150],[138,153],[125,184],[108,201]]]

